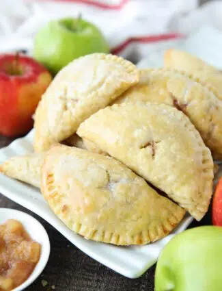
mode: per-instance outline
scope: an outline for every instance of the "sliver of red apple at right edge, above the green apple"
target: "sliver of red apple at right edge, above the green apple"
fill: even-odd
[[[212,224],[222,226],[222,177],[212,200]]]

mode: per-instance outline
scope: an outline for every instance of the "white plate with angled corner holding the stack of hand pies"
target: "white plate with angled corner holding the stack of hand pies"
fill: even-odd
[[[0,163],[14,155],[24,155],[33,151],[32,140],[33,131],[25,138],[19,138],[12,142],[10,146],[1,149]],[[16,203],[35,212],[48,221],[48,223],[51,223],[55,229],[68,238],[75,246],[87,253],[87,255],[129,278],[139,277],[145,270],[150,268],[156,262],[163,246],[175,233],[186,229],[193,220],[191,216],[186,216],[182,223],[174,230],[174,233],[154,244],[130,247],[112,246],[93,242],[92,240],[85,240],[83,237],[70,231],[51,211],[46,201],[44,201],[40,190],[37,188],[0,174],[0,192]]]

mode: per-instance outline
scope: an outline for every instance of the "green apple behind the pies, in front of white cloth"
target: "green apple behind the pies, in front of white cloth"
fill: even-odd
[[[79,18],[51,21],[36,34],[33,54],[53,74],[75,58],[89,53],[108,53],[101,31]]]

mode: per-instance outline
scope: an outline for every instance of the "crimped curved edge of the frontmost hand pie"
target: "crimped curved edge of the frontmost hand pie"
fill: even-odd
[[[64,147],[60,144],[55,147]],[[84,151],[83,149],[78,149],[79,151]],[[44,165],[46,164],[47,157],[50,155],[50,151],[46,154],[43,166],[42,166],[42,194],[51,209],[55,214],[61,219],[63,223],[72,231],[79,233],[86,239],[95,240],[97,242],[106,242],[110,244],[115,244],[119,246],[128,246],[133,244],[148,244],[150,242],[154,242],[161,238],[167,236],[177,225],[180,223],[184,214],[186,213],[182,208],[178,207],[177,216],[173,211],[171,216],[169,216],[168,220],[163,221],[163,223],[159,223],[156,227],[152,227],[151,231],[145,230],[141,233],[138,233],[136,236],[120,236],[117,233],[111,233],[110,231],[105,231],[105,229],[89,229],[89,227],[72,220],[72,216],[68,215],[68,212],[63,212],[64,205],[61,205],[61,194],[55,190],[55,186],[53,186],[53,173],[44,173]],[[98,155],[98,154],[97,154]],[[122,163],[120,163],[122,164]],[[46,177],[44,177],[46,175]],[[45,194],[47,192],[47,194]],[[49,199],[46,196],[53,196],[53,200]],[[64,196],[64,194],[62,195]],[[164,197],[165,198],[165,197]],[[167,198],[166,198],[167,199]],[[53,203],[52,203],[53,201]],[[180,211],[179,211],[180,210]],[[67,220],[67,216],[69,220]]]

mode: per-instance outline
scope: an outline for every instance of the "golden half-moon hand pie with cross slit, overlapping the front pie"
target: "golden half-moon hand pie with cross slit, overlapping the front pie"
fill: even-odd
[[[115,104],[90,116],[77,134],[161,189],[197,220],[208,210],[212,156],[189,118],[176,108]]]

